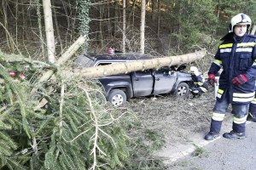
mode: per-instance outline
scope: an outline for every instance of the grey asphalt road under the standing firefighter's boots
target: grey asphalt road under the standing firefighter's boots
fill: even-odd
[[[220,137],[172,161],[169,170],[255,170],[256,122],[247,122],[245,139]],[[193,156],[201,153],[199,156]]]

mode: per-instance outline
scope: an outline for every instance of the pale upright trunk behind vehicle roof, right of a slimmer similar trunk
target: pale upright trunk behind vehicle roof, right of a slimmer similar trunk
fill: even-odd
[[[142,0],[141,11],[141,48],[140,53],[144,54],[145,51],[145,15],[146,15],[146,0]]]

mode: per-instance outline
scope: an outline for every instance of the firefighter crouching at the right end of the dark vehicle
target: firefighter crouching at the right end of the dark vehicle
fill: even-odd
[[[201,72],[195,66],[191,66],[189,73],[192,77],[192,83],[190,83],[190,92],[193,94],[193,98],[200,97],[201,94],[207,93],[208,84],[203,77],[201,77]]]

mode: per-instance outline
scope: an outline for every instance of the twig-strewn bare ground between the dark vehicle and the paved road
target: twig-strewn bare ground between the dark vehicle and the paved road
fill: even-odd
[[[191,133],[206,133],[215,103],[213,89],[200,98],[152,96],[130,99],[127,103],[137,112],[144,127],[164,134],[166,145],[188,142]]]

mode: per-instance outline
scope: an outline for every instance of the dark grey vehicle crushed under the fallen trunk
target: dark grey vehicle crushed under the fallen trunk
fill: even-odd
[[[111,65],[119,62],[151,59],[145,54],[83,54],[76,60],[77,68]],[[115,106],[125,104],[127,99],[158,94],[189,95],[191,76],[183,72],[184,65],[163,67],[159,70],[134,71],[98,78],[105,89],[106,99]]]

